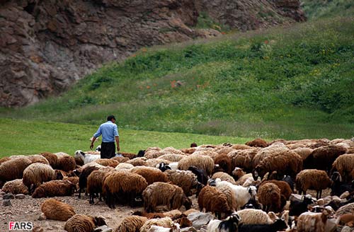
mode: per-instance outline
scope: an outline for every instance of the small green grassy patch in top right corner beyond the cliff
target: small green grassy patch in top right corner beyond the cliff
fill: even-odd
[[[352,0],[302,0],[302,8],[309,20],[354,16],[354,1]]]

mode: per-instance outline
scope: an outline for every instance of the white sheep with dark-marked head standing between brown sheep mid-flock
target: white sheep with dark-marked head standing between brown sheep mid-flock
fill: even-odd
[[[222,186],[228,186],[232,188],[232,191],[234,192],[234,197],[236,198],[236,210],[240,210],[241,207],[243,207],[247,202],[249,202],[249,199],[255,198],[257,195],[255,186],[243,187],[239,185],[232,185],[232,183],[222,181],[219,178],[215,180],[215,185],[218,188]]]

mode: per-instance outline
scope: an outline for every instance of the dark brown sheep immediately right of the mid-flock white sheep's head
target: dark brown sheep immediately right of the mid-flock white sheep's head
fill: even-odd
[[[263,211],[281,211],[280,188],[271,182],[261,185],[258,189],[258,201],[263,205]]]

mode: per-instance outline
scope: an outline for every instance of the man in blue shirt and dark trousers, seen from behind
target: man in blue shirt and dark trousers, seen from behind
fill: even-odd
[[[119,147],[118,127],[115,124],[115,117],[110,115],[107,122],[101,124],[98,130],[93,134],[90,149],[93,149],[93,142],[102,134],[101,158],[112,158],[115,156],[115,142],[117,143],[117,151]]]

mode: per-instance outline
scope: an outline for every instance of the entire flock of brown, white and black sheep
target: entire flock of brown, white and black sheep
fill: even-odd
[[[190,218],[200,211],[216,217],[200,231],[353,231],[353,179],[354,139],[149,147],[110,159],[82,151],[0,159],[3,192],[33,198],[85,192],[91,204],[99,198],[112,209],[144,207],[117,232],[193,231]],[[327,189],[331,196],[321,198]],[[56,199],[41,210],[47,219],[66,221],[66,231],[105,225]]]

